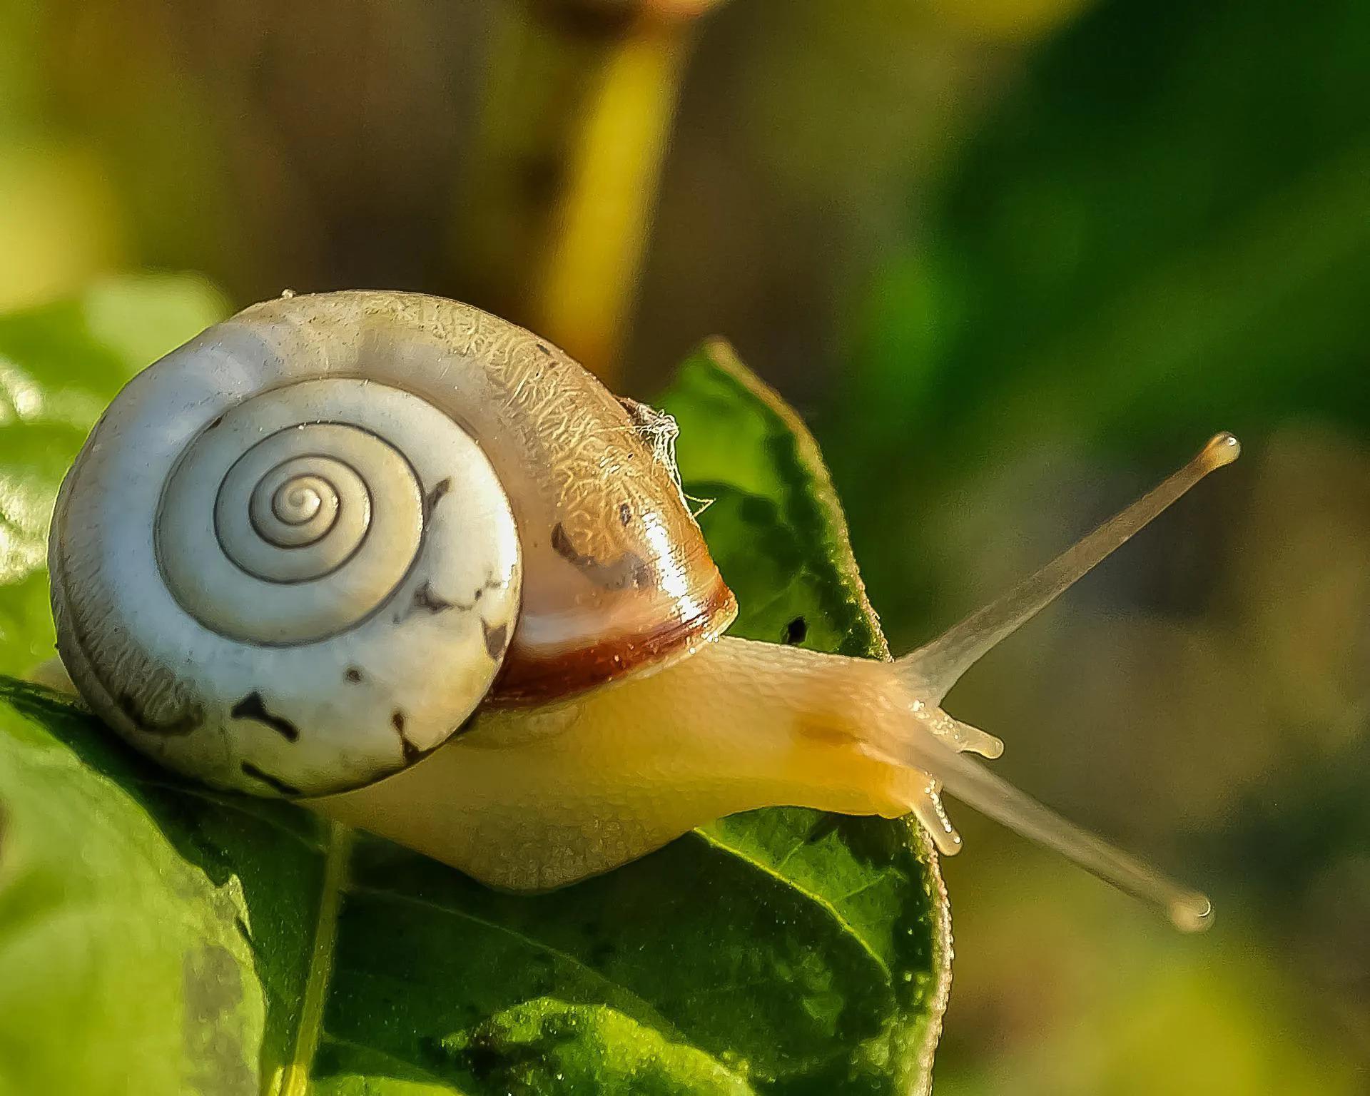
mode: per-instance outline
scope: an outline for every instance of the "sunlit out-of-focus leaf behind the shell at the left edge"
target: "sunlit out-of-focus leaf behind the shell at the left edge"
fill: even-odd
[[[140,275],[0,316],[0,673],[52,656],[48,522],[81,443],[134,373],[225,311],[200,278]]]

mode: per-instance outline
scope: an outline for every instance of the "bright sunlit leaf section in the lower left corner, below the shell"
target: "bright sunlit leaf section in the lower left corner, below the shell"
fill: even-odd
[[[256,1092],[253,881],[207,870],[190,796],[125,792],[88,718],[0,681],[0,1092]]]

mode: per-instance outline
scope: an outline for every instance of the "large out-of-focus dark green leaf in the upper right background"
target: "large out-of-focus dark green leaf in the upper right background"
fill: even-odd
[[[1367,41],[1345,0],[1112,4],[1052,41],[874,282],[838,471],[888,467],[917,544],[1023,444],[1169,462],[1219,426],[1258,453],[1291,421],[1370,430]],[[858,543],[880,507],[851,501]],[[878,604],[927,607],[863,560]]]

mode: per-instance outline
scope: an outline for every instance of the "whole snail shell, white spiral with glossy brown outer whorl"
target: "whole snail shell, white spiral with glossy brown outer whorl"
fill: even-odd
[[[174,769],[258,795],[367,785],[482,704],[726,629],[669,440],[455,301],[258,304],[138,374],[86,441],[53,514],[59,651]]]

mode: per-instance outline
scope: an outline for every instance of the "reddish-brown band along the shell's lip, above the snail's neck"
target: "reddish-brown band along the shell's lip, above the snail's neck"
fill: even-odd
[[[651,632],[608,636],[592,647],[543,659],[515,658],[519,653],[515,632],[515,645],[506,656],[485,703],[497,707],[545,704],[593,689],[717,637],[737,615],[737,599],[722,575],[696,604],[695,614],[673,616]]]

